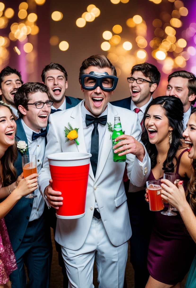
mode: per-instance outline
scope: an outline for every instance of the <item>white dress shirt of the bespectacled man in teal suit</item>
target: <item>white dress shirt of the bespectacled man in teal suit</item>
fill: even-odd
[[[37,139],[32,141],[32,132],[37,133],[30,129],[23,120],[21,120],[22,126],[24,128],[26,138],[28,141],[28,151],[29,154],[36,155],[36,162],[37,162],[37,173],[42,168],[43,160],[44,160],[44,153],[45,153],[45,137],[38,137]],[[44,199],[39,192],[39,188],[34,191],[34,194],[37,195],[36,198],[33,200],[33,206],[29,221],[39,219],[44,211]]]

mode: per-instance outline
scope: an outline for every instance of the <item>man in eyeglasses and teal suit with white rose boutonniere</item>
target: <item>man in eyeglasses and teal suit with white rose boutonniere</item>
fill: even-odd
[[[14,95],[14,103],[20,116],[16,121],[16,140],[24,141],[19,142],[18,159],[14,163],[17,177],[22,173],[24,154],[36,155],[39,173],[46,145],[45,128],[53,103],[49,100],[48,87],[41,83],[23,84]],[[25,143],[27,149],[21,152]],[[10,275],[14,288],[26,288],[24,264],[27,267],[29,288],[49,288],[52,251],[50,227],[47,225],[45,202],[39,188],[34,194],[37,197],[33,199],[21,198],[5,217],[18,266]]]

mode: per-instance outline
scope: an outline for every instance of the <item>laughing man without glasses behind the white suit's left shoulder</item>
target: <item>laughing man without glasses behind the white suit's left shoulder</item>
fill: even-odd
[[[41,73],[42,83],[48,86],[50,100],[53,101],[51,113],[69,109],[76,106],[82,99],[65,96],[68,88],[67,72],[65,68],[57,63],[46,65]]]

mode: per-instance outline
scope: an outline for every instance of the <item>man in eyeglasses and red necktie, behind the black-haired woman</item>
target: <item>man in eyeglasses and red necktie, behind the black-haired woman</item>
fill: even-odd
[[[131,77],[127,78],[131,96],[111,104],[124,107],[138,114],[142,126],[146,107],[152,101],[152,94],[160,81],[157,67],[147,62],[134,65]],[[126,179],[128,180],[128,179]],[[143,201],[145,187],[136,187],[130,181],[124,182],[127,194],[132,236],[130,238],[130,262],[134,269],[135,288],[144,288],[149,277],[147,270],[148,242],[151,234],[151,213],[148,203]],[[142,277],[141,277],[142,275]]]

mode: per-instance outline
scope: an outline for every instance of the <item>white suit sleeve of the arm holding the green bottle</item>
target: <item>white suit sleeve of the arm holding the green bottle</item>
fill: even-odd
[[[132,130],[130,131],[130,135],[141,143],[141,126],[138,121],[138,115],[136,113],[134,113],[133,115],[134,120],[132,123]],[[144,145],[143,147],[145,149],[145,156],[143,162],[140,162],[137,157],[132,154],[126,155],[127,176],[130,179],[130,182],[138,187],[145,185],[151,169],[150,158]]]

